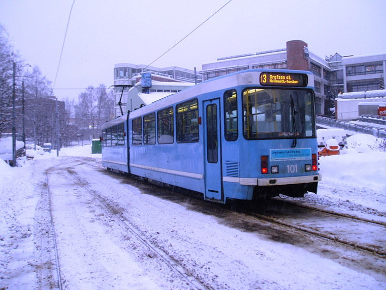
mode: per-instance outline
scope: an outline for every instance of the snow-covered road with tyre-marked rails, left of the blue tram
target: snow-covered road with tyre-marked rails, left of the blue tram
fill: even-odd
[[[8,185],[19,194],[2,199],[0,288],[55,288],[58,277],[66,289],[386,287],[385,258],[137,184],[98,159],[36,160],[22,173]]]

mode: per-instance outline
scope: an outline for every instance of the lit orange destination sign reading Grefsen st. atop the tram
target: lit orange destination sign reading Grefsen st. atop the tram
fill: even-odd
[[[308,77],[303,73],[263,72],[260,84],[268,86],[301,86],[305,87]]]

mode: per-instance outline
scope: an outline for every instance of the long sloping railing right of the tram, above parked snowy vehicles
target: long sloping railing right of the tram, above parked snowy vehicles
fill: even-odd
[[[352,124],[349,122],[334,120],[326,117],[316,116],[316,124],[328,127],[344,129],[350,132],[373,135],[378,138],[386,138],[386,129],[373,126]]]

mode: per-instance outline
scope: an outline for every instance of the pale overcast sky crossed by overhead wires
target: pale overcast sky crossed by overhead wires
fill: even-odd
[[[73,99],[89,85],[112,85],[114,64],[152,63],[227,2],[75,0],[54,95]],[[11,43],[52,82],[72,4],[0,0]],[[232,0],[152,66],[200,71],[218,57],[285,48],[296,39],[320,57],[382,53],[385,11],[385,0]]]

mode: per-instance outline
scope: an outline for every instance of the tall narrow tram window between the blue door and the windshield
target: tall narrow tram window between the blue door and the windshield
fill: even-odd
[[[228,90],[224,93],[225,139],[235,141],[239,135],[237,127],[237,93]]]

